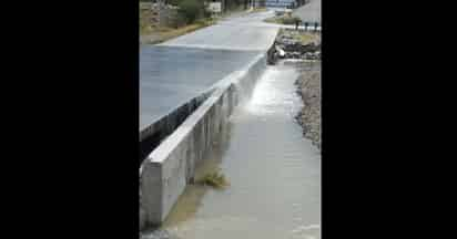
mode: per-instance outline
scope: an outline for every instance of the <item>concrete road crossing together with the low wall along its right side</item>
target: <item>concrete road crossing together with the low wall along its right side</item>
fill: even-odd
[[[278,27],[260,12],[140,53],[140,227],[160,225],[266,66]],[[222,79],[222,80],[221,80]]]

